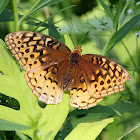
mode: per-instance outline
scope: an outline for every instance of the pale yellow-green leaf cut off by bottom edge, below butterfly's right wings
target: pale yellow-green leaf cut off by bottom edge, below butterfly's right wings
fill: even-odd
[[[65,140],[95,140],[101,131],[113,121],[114,118],[108,118],[95,122],[90,121],[79,123]]]

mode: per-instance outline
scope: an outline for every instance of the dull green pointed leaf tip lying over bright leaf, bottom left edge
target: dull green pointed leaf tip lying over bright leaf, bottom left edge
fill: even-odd
[[[0,119],[0,130],[12,131],[27,129],[30,129],[30,127]]]

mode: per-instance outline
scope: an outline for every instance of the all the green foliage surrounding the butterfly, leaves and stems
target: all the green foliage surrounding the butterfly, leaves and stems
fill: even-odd
[[[128,8],[131,8],[131,0],[127,2],[119,0],[113,8],[99,0],[107,15],[93,16],[93,10],[86,16],[77,17],[74,16],[71,9],[74,6],[68,3],[70,1],[29,1],[29,3],[26,2],[26,6],[28,4],[30,6],[27,8],[25,6],[25,9],[22,9],[16,0],[2,0],[0,3],[0,31],[6,30],[3,31],[3,34],[1,33],[1,36],[18,30],[37,30],[45,34],[48,33],[62,42],[65,40],[65,44],[71,50],[74,49],[77,39],[83,44],[83,54],[94,52],[108,54],[111,58],[117,59],[126,69],[132,71],[133,81],[128,82],[126,91],[105,97],[98,106],[88,110],[70,108],[68,92],[64,93],[62,103],[44,105],[42,102],[38,102],[36,96],[32,94],[24,78],[25,71],[16,62],[5,43],[0,40],[0,130],[3,130],[0,133],[0,138],[8,139],[6,133],[8,131],[13,135],[14,140],[19,138],[23,140],[30,138],[34,140],[100,140],[103,137],[112,140],[121,136],[135,139],[139,135],[139,131],[135,133],[131,131],[136,128],[139,130],[140,121],[138,37],[135,38],[136,45],[134,45],[134,40],[132,47],[126,43],[132,38],[131,31],[137,31],[140,28],[139,8],[135,6],[134,9],[133,5],[135,12],[127,15]],[[49,9],[47,12],[51,14],[48,18],[42,16],[45,13],[42,8],[46,8],[46,6]],[[98,13],[99,10],[97,11],[96,8],[95,11]],[[18,12],[20,10],[22,12]],[[88,17],[89,15],[91,16]],[[70,16],[73,16],[72,22],[75,30],[73,32],[68,25]],[[59,28],[62,31],[58,32]],[[99,33],[101,29],[105,30]],[[74,38],[74,44],[67,33]],[[76,37],[73,37],[73,33],[76,33]],[[89,38],[94,42],[90,42]],[[124,52],[120,51],[118,44],[124,46]],[[96,46],[99,48],[97,49]],[[119,51],[116,51],[117,48]],[[117,55],[121,52],[123,52],[123,59],[118,60]],[[125,62],[128,65],[125,65]],[[11,131],[15,131],[15,133]],[[131,135],[128,135],[130,132]]]

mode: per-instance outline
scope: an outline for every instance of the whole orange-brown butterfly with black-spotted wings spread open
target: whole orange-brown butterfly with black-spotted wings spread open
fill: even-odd
[[[5,42],[26,70],[25,79],[33,94],[46,104],[58,104],[70,91],[70,105],[78,109],[96,106],[105,96],[125,90],[129,73],[117,62],[96,54],[81,55],[59,40],[38,32],[8,34]]]

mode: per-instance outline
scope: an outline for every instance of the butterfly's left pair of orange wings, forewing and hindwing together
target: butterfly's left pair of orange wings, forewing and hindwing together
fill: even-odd
[[[46,104],[61,102],[69,48],[53,37],[30,31],[10,33],[5,42],[26,70],[26,81],[38,99]]]

